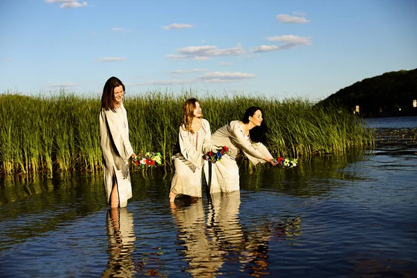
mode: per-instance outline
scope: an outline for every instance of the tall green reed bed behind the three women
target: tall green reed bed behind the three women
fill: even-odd
[[[336,106],[315,106],[301,98],[279,101],[261,96],[154,91],[125,97],[133,149],[161,152],[165,168],[172,167],[170,157],[177,143],[181,106],[189,97],[199,99],[212,132],[231,120],[240,120],[249,106],[263,108],[268,124],[265,145],[274,156],[302,161],[374,145],[373,133],[365,122]],[[0,172],[100,172],[100,106],[98,96],[1,94]]]

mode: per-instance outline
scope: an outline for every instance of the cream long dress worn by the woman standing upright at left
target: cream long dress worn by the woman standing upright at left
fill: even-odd
[[[104,187],[107,202],[110,200],[113,179],[117,181],[120,207],[127,206],[132,197],[132,186],[128,161],[134,154],[129,141],[129,124],[123,104],[114,113],[111,110],[100,112],[100,147],[104,164]],[[115,177],[113,177],[113,171]]]

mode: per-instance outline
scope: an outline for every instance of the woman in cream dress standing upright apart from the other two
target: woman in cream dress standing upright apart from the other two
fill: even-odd
[[[104,187],[111,207],[127,206],[132,197],[129,158],[135,158],[129,141],[129,124],[123,106],[124,84],[111,77],[101,95],[100,147],[103,154]]]

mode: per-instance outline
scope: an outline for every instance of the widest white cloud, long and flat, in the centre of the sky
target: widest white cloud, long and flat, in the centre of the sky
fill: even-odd
[[[208,60],[213,56],[239,56],[245,54],[245,50],[238,44],[236,47],[219,49],[213,45],[191,46],[177,49],[179,54],[169,54],[167,58]]]

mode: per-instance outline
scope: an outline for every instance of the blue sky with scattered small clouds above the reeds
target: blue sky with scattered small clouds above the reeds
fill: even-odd
[[[324,99],[417,67],[414,0],[1,0],[0,92]]]

